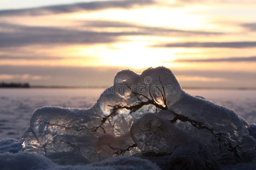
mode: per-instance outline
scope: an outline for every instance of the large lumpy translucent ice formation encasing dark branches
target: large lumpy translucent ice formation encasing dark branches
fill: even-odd
[[[22,150],[59,165],[135,156],[164,158],[152,160],[160,167],[181,161],[218,169],[255,160],[253,128],[234,111],[187,94],[165,67],[122,70],[90,109],[37,109]]]

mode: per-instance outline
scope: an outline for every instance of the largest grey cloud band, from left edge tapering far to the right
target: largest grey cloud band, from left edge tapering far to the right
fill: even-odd
[[[9,23],[0,23],[0,48],[26,45],[48,45],[48,44],[99,44],[116,42],[121,36],[167,36],[167,35],[216,35],[218,32],[185,31],[170,28],[151,27],[147,25],[138,25],[114,21],[83,21],[84,26],[101,28],[100,31],[82,31],[76,27],[58,28],[58,27],[39,27],[14,25]],[[127,28],[121,32],[106,32],[106,27]],[[8,30],[12,30],[11,32]]]

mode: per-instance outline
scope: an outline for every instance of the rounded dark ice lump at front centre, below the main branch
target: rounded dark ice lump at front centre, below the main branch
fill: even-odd
[[[143,153],[172,153],[175,148],[190,145],[192,141],[184,131],[152,113],[145,114],[132,125],[131,136]]]

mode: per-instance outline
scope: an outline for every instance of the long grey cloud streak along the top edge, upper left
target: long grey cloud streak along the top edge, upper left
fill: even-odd
[[[136,6],[146,6],[155,4],[152,0],[117,0],[117,1],[95,1],[95,2],[83,2],[76,4],[64,4],[64,5],[52,5],[39,8],[27,8],[18,10],[1,10],[0,16],[15,16],[15,15],[49,15],[70,13],[77,11],[97,11],[106,10],[112,8],[131,9]]]

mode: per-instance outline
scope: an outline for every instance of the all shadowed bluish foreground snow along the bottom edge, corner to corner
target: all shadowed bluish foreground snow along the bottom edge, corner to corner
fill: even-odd
[[[192,157],[198,156],[193,154],[190,150],[191,148],[184,147],[177,150],[176,153],[170,155],[143,155],[140,156],[143,159],[138,157],[116,157],[116,158],[109,158],[105,159],[99,163],[89,164],[89,165],[68,165],[68,166],[60,166],[53,163],[50,159],[45,158],[39,154],[31,153],[31,152],[19,152],[21,148],[21,141],[15,139],[4,139],[0,141],[0,166],[1,169],[12,169],[12,170],[20,170],[20,169],[28,169],[28,170],[80,170],[80,169],[88,169],[88,170],[100,170],[100,169],[149,169],[149,170],[158,170],[159,167],[152,162],[157,162],[160,164],[161,169],[168,169],[169,168],[169,161],[170,160],[178,160],[180,161],[191,159]],[[188,152],[186,152],[186,150]],[[190,153],[193,154],[189,156]],[[148,159],[148,160],[147,160]],[[166,163],[167,162],[167,163]],[[173,162],[173,161],[172,161]],[[202,167],[203,164],[199,164],[199,161],[196,162],[196,165],[200,165]],[[185,164],[184,164],[185,165]],[[195,165],[195,164],[194,164]],[[249,163],[238,163],[236,165],[229,165],[229,166],[220,166],[221,169],[227,170],[240,170],[240,169],[254,169],[256,165],[256,161],[249,162]],[[173,167],[172,167],[173,168]],[[177,167],[180,168],[180,167]],[[191,167],[189,167],[191,169]],[[200,168],[199,168],[200,169]]]

